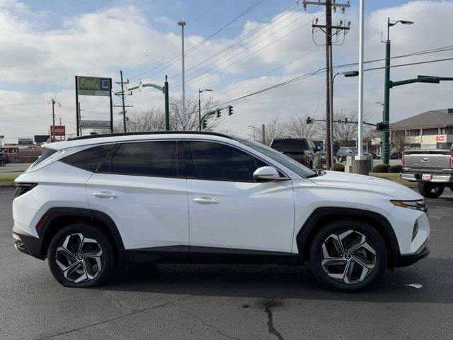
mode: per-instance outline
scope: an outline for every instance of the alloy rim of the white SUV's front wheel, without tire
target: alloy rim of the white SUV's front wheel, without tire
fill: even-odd
[[[355,230],[331,234],[323,242],[321,252],[323,270],[342,283],[362,282],[376,266],[373,245]]]

